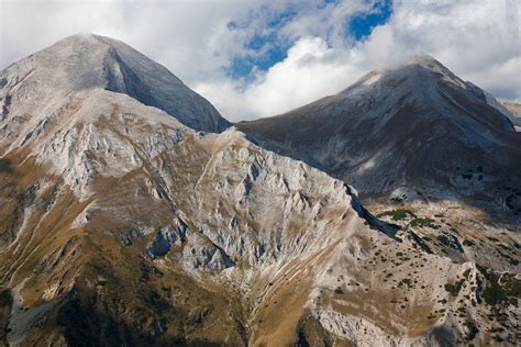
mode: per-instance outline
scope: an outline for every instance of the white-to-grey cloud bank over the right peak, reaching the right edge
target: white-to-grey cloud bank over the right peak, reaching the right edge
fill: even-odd
[[[298,37],[285,60],[246,86],[226,79],[195,87],[230,119],[255,119],[339,92],[372,68],[423,52],[498,97],[521,100],[519,23],[514,1],[396,1],[390,20],[362,42]]]

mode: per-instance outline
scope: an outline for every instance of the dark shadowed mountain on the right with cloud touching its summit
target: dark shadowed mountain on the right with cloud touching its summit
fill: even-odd
[[[410,190],[500,200],[521,214],[516,192],[505,190],[521,187],[521,134],[506,113],[489,93],[421,55],[335,96],[236,126],[366,198]]]

